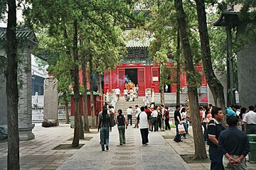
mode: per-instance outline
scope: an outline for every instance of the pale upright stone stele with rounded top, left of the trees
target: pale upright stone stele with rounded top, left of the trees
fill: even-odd
[[[58,125],[58,80],[48,77],[44,81],[43,120],[49,120]]]

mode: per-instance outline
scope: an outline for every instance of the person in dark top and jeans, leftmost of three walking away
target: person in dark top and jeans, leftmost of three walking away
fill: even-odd
[[[110,116],[107,114],[107,108],[103,107],[102,113],[99,114],[99,121],[98,121],[98,130],[100,131],[100,145],[102,147],[102,151],[109,149],[109,142],[110,142],[110,132],[112,132],[112,127],[110,125]]]

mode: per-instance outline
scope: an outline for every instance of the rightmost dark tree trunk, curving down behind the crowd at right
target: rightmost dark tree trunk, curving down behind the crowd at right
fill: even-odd
[[[201,40],[203,71],[206,75],[206,81],[208,83],[210,91],[213,94],[215,106],[222,108],[223,111],[225,112],[225,98],[223,86],[222,84],[220,84],[220,81],[215,76],[211,62],[210,42],[206,22],[206,8],[204,0],[196,0],[196,8],[198,14],[198,29]],[[225,122],[225,119],[223,120],[223,122]]]

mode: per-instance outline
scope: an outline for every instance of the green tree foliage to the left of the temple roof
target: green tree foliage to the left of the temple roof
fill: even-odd
[[[122,30],[142,24],[142,16],[132,11],[134,1],[27,0],[23,13],[28,26],[36,31],[38,47],[35,54],[48,62],[48,72],[59,81],[63,95],[70,94],[70,74],[82,60],[92,57],[93,69],[103,74],[114,69],[126,50]],[[73,21],[78,21],[78,55],[73,61]],[[43,63],[42,63],[43,64]],[[83,88],[80,89],[81,93]]]

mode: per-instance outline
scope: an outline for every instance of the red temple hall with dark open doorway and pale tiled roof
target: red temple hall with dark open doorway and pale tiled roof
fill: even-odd
[[[135,40],[127,41],[127,55],[124,59],[119,62],[116,69],[112,69],[104,74],[104,93],[107,91],[111,92],[112,89],[119,89],[124,91],[127,84],[133,84],[132,86],[139,86],[139,96],[145,96],[145,90],[154,89],[155,93],[160,93],[160,72],[159,64],[156,64],[149,60],[149,43],[150,40],[146,42],[139,42]],[[170,72],[166,72],[166,76],[172,80],[171,84],[166,84],[166,93],[176,93],[176,83],[174,75],[176,74],[176,67],[174,67],[174,56],[169,55],[169,62],[166,63],[166,67],[169,68]],[[203,66],[198,65],[196,67],[198,72],[203,71]],[[201,88],[199,91],[206,91],[207,84],[205,75],[202,73]],[[181,91],[186,93],[186,74],[181,72],[180,75]],[[167,88],[168,87],[168,88]]]

